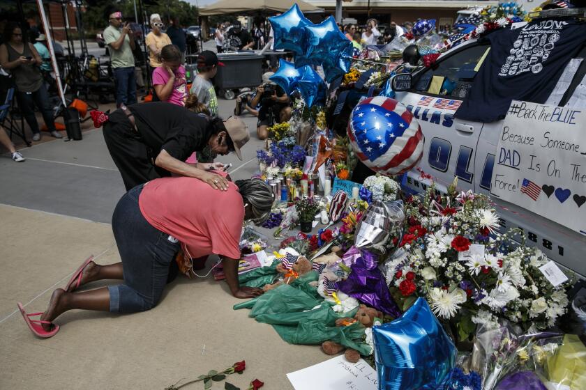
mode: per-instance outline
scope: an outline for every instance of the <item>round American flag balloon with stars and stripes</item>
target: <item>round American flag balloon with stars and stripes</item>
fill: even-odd
[[[409,171],[423,155],[419,122],[403,104],[383,96],[354,107],[348,138],[361,162],[386,176]]]

